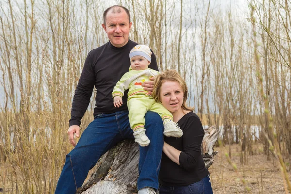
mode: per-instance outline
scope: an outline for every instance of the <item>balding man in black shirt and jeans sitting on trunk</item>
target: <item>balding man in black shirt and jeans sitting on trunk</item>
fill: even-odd
[[[126,103],[119,108],[114,107],[111,95],[117,81],[129,70],[129,52],[137,45],[129,40],[132,24],[130,14],[125,7],[113,6],[104,11],[103,20],[102,27],[109,42],[90,51],[86,58],[73,98],[68,129],[69,141],[76,147],[66,156],[56,194],[74,194],[105,152],[123,139],[133,138]],[[158,70],[154,54],[149,67]],[[97,89],[94,121],[84,130],[75,145],[73,135],[76,133],[76,137],[80,136],[79,125],[90,103],[94,86]],[[152,81],[144,83],[145,90],[151,92],[152,87]],[[123,96],[123,101],[127,101],[127,93]],[[161,117],[154,112],[146,113],[145,119],[146,135],[151,143],[140,147],[137,187],[139,194],[155,194],[162,156],[163,124]]]

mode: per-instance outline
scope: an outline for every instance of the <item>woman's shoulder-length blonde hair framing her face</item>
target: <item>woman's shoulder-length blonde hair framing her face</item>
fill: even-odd
[[[153,93],[152,93],[152,97],[155,99],[156,102],[160,102],[161,101],[161,87],[162,84],[166,81],[176,81],[180,84],[182,91],[184,93],[184,99],[183,99],[183,104],[182,104],[182,109],[186,110],[186,111],[193,111],[192,107],[187,106],[186,104],[186,100],[188,98],[188,87],[187,84],[185,82],[185,80],[180,76],[180,74],[173,69],[167,69],[165,71],[163,71],[162,73],[160,73],[155,81],[154,81],[154,89],[153,89]]]

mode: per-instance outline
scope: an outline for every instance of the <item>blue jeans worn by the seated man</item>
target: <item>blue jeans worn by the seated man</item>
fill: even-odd
[[[158,113],[147,112],[146,135],[150,144],[140,146],[139,178],[137,188],[158,189],[158,174],[163,147],[163,124]],[[128,111],[101,114],[94,118],[81,135],[76,147],[66,155],[65,165],[60,175],[55,194],[74,194],[81,187],[88,172],[99,158],[118,142],[132,139]]]

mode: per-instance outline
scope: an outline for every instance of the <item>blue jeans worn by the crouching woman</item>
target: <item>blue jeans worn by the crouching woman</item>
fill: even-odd
[[[160,194],[213,194],[209,176],[186,186],[166,187],[159,189]]]

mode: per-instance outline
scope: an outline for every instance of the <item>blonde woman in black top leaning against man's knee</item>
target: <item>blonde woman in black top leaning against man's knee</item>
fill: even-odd
[[[213,194],[200,149],[204,130],[186,105],[186,82],[177,71],[166,70],[156,77],[152,96],[173,114],[184,133],[181,138],[164,137],[160,194]]]

